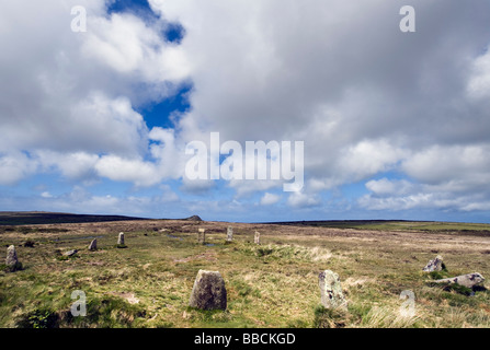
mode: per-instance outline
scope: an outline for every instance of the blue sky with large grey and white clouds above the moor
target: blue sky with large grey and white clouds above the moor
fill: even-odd
[[[488,1],[0,3],[0,211],[490,222]],[[212,178],[214,132],[303,186]]]

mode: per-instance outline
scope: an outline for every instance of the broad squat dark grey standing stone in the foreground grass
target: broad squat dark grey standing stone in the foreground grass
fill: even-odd
[[[201,310],[226,310],[225,280],[218,271],[197,272],[189,305]]]

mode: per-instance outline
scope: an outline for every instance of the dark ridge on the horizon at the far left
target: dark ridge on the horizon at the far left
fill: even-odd
[[[83,223],[83,222],[109,222],[109,221],[129,221],[148,220],[146,218],[132,218],[123,215],[90,215],[90,214],[70,214],[58,212],[0,212],[0,225],[35,225],[54,223]]]

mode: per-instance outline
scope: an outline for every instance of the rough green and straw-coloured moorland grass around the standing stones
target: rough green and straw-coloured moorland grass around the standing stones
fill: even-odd
[[[143,224],[125,231],[124,249],[115,245],[119,230],[104,224],[60,226],[68,232],[58,232],[59,241],[31,228],[34,247],[21,245],[22,232],[0,235],[1,245],[15,245],[23,264],[22,270],[0,272],[0,327],[490,327],[488,291],[468,296],[428,285],[472,270],[490,276],[487,241],[468,243],[464,254],[442,241],[437,250],[447,270],[426,275],[421,269],[434,257],[433,241],[262,231],[263,244],[255,245],[250,228],[236,230],[231,244],[225,230],[208,233],[213,246],[203,246],[190,224],[167,224],[163,233]],[[98,228],[106,231],[94,233]],[[76,240],[94,235],[96,252],[88,250],[90,238]],[[57,253],[69,249],[79,252],[70,258]],[[200,269],[224,277],[226,312],[189,307]],[[320,306],[318,273],[324,269],[339,273],[347,312]],[[77,290],[87,295],[86,317],[69,312]],[[404,290],[415,294],[412,317],[399,312]]]

